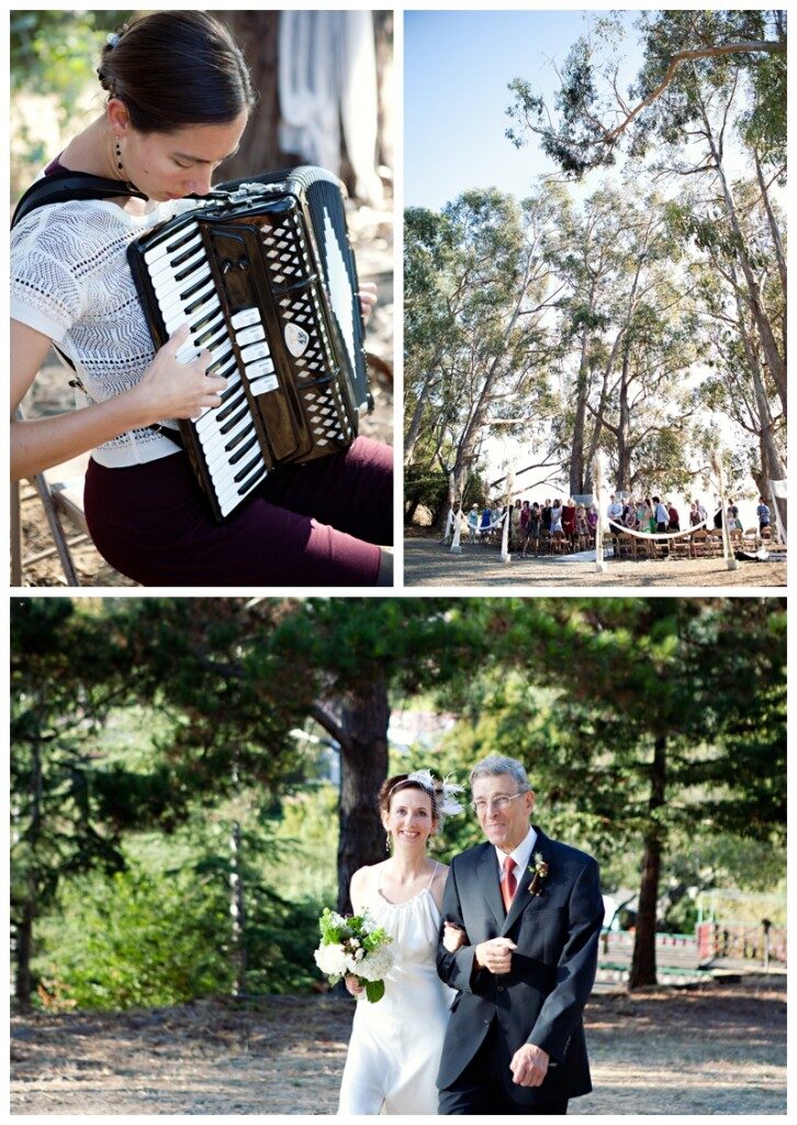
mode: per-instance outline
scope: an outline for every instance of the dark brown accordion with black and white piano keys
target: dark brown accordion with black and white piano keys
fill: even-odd
[[[279,466],[352,443],[371,398],[334,176],[297,168],[214,191],[127,254],[155,346],[188,324],[178,358],[208,349],[208,374],[227,379],[220,406],[179,423],[217,520]]]

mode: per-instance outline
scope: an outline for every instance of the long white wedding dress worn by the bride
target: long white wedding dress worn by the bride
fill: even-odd
[[[456,996],[435,968],[440,910],[428,886],[399,903],[380,891],[365,906],[393,938],[396,960],[382,999],[356,1001],[337,1113],[436,1114],[435,1079]]]

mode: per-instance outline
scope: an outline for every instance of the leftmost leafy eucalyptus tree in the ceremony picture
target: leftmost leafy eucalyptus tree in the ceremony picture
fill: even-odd
[[[438,456],[445,431],[460,497],[490,426],[523,431],[546,399],[556,294],[544,238],[555,212],[544,189],[520,204],[488,189],[441,216],[409,213],[405,456],[416,458],[424,428],[436,433],[427,454]]]

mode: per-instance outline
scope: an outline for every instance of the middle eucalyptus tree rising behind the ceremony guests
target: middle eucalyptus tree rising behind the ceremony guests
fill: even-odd
[[[590,488],[598,449],[616,487],[685,480],[697,372],[692,285],[662,200],[603,187],[560,212],[550,261],[560,302],[562,411],[556,439],[571,493]]]

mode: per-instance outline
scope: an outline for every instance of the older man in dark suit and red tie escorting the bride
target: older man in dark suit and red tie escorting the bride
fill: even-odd
[[[582,1012],[604,920],[598,865],[531,825],[514,758],[480,762],[471,791],[487,843],[456,856],[445,888],[437,971],[458,996],[437,1112],[565,1114],[592,1089]],[[464,944],[452,951],[454,928]]]

